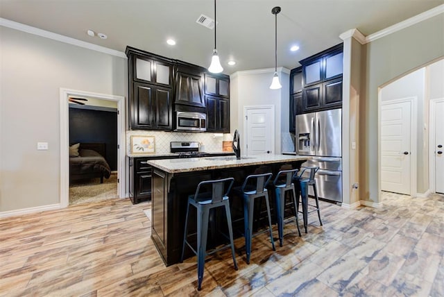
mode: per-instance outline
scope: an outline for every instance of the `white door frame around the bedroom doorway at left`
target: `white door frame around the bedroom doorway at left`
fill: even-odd
[[[69,205],[69,96],[117,101],[117,195],[125,198],[125,97],[60,88],[60,207]]]

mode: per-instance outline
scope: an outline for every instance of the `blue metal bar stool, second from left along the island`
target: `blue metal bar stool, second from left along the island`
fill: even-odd
[[[270,232],[270,240],[273,251],[276,251],[275,241],[273,240],[273,232],[271,228],[271,213],[270,203],[268,201],[268,191],[265,188],[268,182],[271,180],[273,173],[252,174],[247,176],[244,181],[244,185],[238,191],[244,196],[244,237],[245,237],[245,249],[247,255],[247,264],[250,264],[251,255],[251,239],[253,237],[253,209],[255,206],[256,198],[265,197],[266,212],[268,214],[268,230]],[[257,232],[258,235],[262,232]]]

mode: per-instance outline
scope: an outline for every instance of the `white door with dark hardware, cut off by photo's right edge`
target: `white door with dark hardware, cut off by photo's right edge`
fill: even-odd
[[[444,101],[435,105],[435,191],[444,194]]]

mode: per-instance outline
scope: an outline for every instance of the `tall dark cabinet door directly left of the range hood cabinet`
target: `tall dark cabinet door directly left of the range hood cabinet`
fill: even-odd
[[[155,126],[162,130],[173,128],[173,107],[171,103],[171,89],[157,87],[155,90]]]

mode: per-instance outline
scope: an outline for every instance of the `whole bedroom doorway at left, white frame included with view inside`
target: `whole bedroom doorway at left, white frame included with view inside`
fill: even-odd
[[[62,207],[125,197],[124,103],[123,96],[60,89]]]

